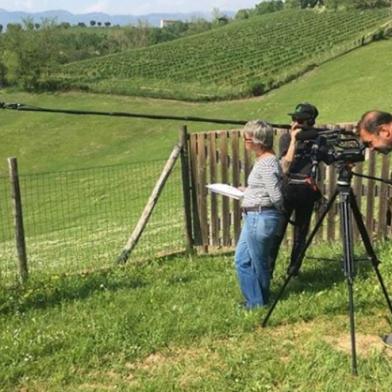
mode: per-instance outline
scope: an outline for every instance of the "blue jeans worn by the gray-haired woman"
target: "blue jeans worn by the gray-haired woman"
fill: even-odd
[[[274,209],[243,214],[235,252],[237,277],[246,307],[266,305],[270,287],[270,253],[279,235],[281,213]]]

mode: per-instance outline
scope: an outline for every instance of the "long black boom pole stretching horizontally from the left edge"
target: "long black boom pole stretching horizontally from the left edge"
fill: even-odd
[[[217,118],[204,118],[194,116],[168,116],[158,114],[143,114],[143,113],[128,113],[128,112],[100,112],[100,111],[87,111],[87,110],[74,110],[74,109],[50,109],[38,106],[26,105],[23,103],[5,103],[0,102],[0,109],[10,109],[24,112],[46,112],[46,113],[63,113],[74,115],[94,115],[94,116],[111,116],[111,117],[134,117],[134,118],[147,118],[150,120],[176,120],[176,121],[194,121],[194,122],[208,122],[217,124],[234,124],[245,125],[247,121],[243,120],[226,120]],[[288,124],[271,124],[274,128],[290,129]]]

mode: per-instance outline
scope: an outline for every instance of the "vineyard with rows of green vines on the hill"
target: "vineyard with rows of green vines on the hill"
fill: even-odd
[[[53,78],[91,91],[206,100],[260,95],[379,38],[389,10],[282,11],[149,48],[65,65]]]

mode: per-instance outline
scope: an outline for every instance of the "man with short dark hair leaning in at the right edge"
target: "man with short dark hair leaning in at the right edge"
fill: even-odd
[[[392,113],[372,110],[362,115],[357,124],[362,143],[370,150],[388,154],[392,151]],[[392,347],[392,334],[384,335],[383,342]]]

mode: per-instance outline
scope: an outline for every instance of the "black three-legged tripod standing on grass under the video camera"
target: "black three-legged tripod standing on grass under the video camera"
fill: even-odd
[[[353,301],[353,283],[354,283],[354,276],[355,276],[355,266],[354,266],[354,255],[353,255],[353,232],[352,232],[352,219],[350,214],[350,208],[353,213],[355,222],[357,224],[359,233],[361,235],[362,241],[365,245],[366,252],[369,256],[369,260],[372,263],[374,271],[376,272],[378,281],[380,282],[382,291],[384,293],[385,299],[387,301],[389,310],[392,314],[392,304],[391,300],[388,296],[387,290],[384,285],[384,281],[382,279],[381,273],[378,269],[378,265],[380,261],[378,260],[374,249],[372,247],[369,235],[367,233],[365,224],[363,223],[361,212],[358,208],[357,201],[355,199],[355,195],[351,188],[351,179],[355,173],[352,172],[350,164],[342,164],[339,167],[339,175],[337,181],[337,189],[335,193],[329,200],[325,210],[320,216],[320,219],[317,221],[314,229],[309,235],[308,240],[302,250],[302,252],[298,255],[296,261],[296,268],[290,269],[289,273],[286,277],[285,282],[283,283],[282,288],[280,289],[274,303],[272,304],[271,308],[269,309],[267,315],[265,316],[262,327],[267,325],[268,319],[270,318],[275,306],[277,305],[279,299],[282,297],[283,292],[290,282],[293,276],[296,276],[301,262],[305,256],[306,250],[308,249],[309,245],[311,244],[314,236],[316,235],[318,229],[320,228],[324,217],[327,215],[328,211],[331,209],[336,197],[339,195],[339,215],[340,215],[340,224],[343,233],[343,269],[344,269],[344,276],[347,280],[348,286],[348,300],[349,300],[349,318],[350,318],[350,332],[351,332],[351,353],[352,353],[352,373],[357,375],[357,355],[355,349],[355,320],[354,320],[354,301]],[[364,176],[366,177],[366,176]],[[374,177],[373,177],[374,178]],[[379,179],[381,180],[381,179]],[[387,181],[385,181],[387,182]]]

